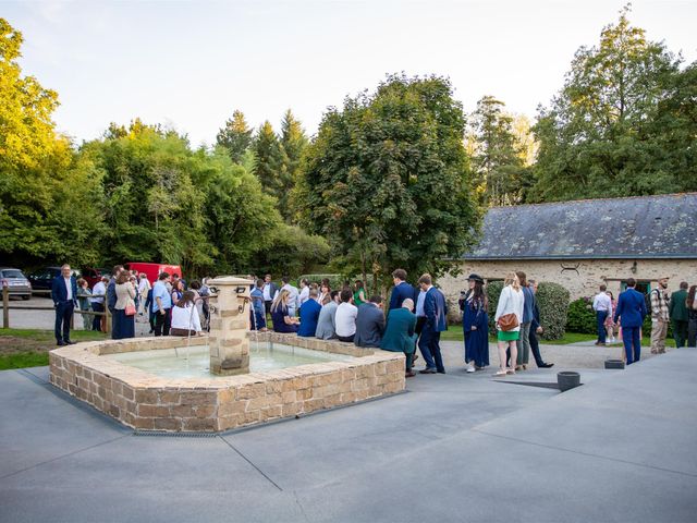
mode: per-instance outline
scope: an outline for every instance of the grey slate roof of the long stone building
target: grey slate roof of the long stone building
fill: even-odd
[[[697,193],[584,199],[487,211],[466,259],[697,259]]]

